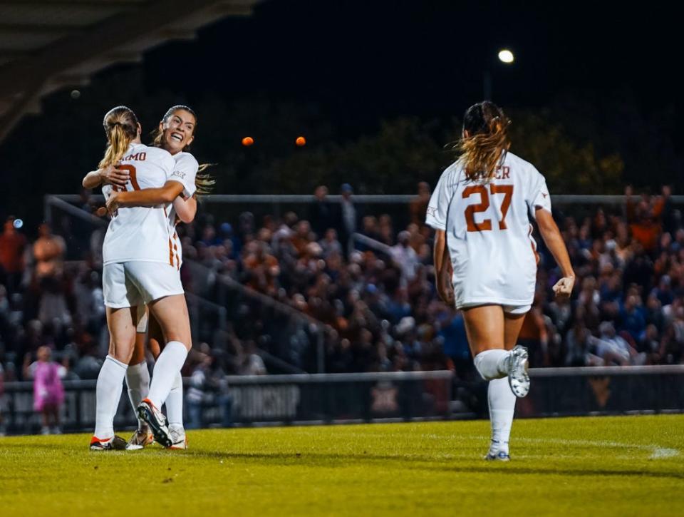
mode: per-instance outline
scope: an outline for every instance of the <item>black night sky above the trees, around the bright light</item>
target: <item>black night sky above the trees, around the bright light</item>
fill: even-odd
[[[504,107],[546,106],[564,93],[599,100],[628,91],[648,113],[679,103],[677,20],[653,4],[603,2],[266,1],[195,42],[151,51],[151,89],[189,98],[216,91],[314,101],[363,130],[378,118],[459,114],[482,97],[489,70]],[[512,66],[497,59],[511,48]],[[191,79],[192,78],[192,79]]]

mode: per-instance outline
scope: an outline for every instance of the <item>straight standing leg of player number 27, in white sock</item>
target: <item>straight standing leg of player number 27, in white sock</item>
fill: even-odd
[[[512,350],[517,342],[525,314],[504,312],[504,349]],[[492,424],[492,441],[487,459],[509,459],[509,439],[517,396],[509,386],[508,377],[492,379],[487,387],[489,419]]]

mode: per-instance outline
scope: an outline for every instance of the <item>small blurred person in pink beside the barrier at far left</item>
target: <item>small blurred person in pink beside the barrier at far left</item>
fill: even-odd
[[[59,413],[64,403],[64,388],[61,377],[66,373],[63,367],[51,360],[49,347],[40,347],[37,360],[29,364],[30,355],[24,362],[26,379],[33,379],[33,409],[41,414],[42,434],[61,434]]]

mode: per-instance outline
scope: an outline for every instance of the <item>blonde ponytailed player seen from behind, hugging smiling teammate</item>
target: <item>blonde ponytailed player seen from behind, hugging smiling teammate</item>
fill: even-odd
[[[113,418],[135,345],[137,308],[143,303],[155,314],[168,343],[157,360],[150,393],[138,406],[138,415],[147,421],[160,444],[170,446],[166,419],[158,408],[192,342],[187,305],[172,262],[167,208],[188,185],[174,175],[175,160],[167,151],[140,143],[140,123],[129,108],[110,110],[104,127],[108,148],[100,168],[116,164],[130,176],[125,190],[115,188],[107,201],[113,217],[103,243],[103,294],[111,342],[98,376],[95,436],[90,449],[125,447],[125,442],[114,436]],[[156,195],[153,203],[140,198],[142,189]]]

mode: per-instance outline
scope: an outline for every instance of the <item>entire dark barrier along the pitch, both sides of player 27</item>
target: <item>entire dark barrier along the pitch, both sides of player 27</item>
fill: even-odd
[[[532,389],[516,406],[518,417],[684,412],[684,365],[532,369]],[[391,372],[226,377],[221,392],[186,399],[186,424],[336,423],[384,419],[487,417],[484,382],[456,382],[451,372]],[[65,431],[91,431],[95,382],[66,382]],[[187,391],[187,390],[186,390]],[[7,383],[2,402],[12,434],[39,429],[30,382]],[[135,425],[125,389],[115,427]]]

